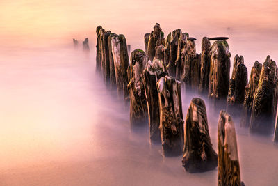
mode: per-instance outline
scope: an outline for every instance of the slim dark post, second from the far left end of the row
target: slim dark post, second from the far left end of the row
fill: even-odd
[[[104,82],[106,83],[106,85],[110,86],[110,59],[109,59],[109,47],[108,47],[108,37],[111,35],[111,31],[106,31],[103,35],[102,38],[102,45],[103,45],[103,56],[104,58],[103,63],[104,63]]]

